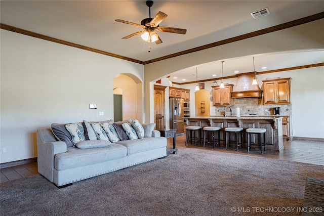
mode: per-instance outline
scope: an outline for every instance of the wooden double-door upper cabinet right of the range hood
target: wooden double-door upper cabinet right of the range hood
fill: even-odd
[[[291,78],[262,80],[264,104],[290,104]]]

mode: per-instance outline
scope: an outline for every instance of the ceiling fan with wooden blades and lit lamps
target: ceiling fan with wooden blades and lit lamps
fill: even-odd
[[[161,32],[170,32],[170,33],[177,33],[177,34],[185,34],[187,32],[187,29],[183,28],[173,28],[173,27],[163,27],[159,26],[159,24],[167,18],[167,14],[163,12],[158,12],[154,18],[151,18],[151,7],[153,5],[153,1],[146,1],[147,7],[149,7],[149,18],[143,19],[141,21],[141,24],[125,21],[125,20],[115,20],[117,22],[122,22],[126,24],[131,24],[135,26],[142,27],[144,30],[137,31],[133,34],[127,35],[123,37],[122,39],[128,39],[132,36],[135,36],[137,34],[143,33],[141,35],[142,39],[146,42],[155,42],[155,44],[161,44],[162,40],[158,36],[155,30],[161,31]]]

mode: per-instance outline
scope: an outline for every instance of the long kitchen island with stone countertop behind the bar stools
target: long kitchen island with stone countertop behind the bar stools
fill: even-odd
[[[236,117],[234,115],[229,116],[196,116],[184,118],[189,126],[201,126],[201,134],[204,133],[203,127],[206,126],[219,126],[221,127],[221,144],[225,146],[225,127],[243,127],[243,143],[247,148],[248,136],[245,132],[247,128],[265,128],[265,142],[267,151],[280,151],[284,148],[282,142],[282,116],[277,115],[245,115]],[[258,135],[252,135],[252,144],[258,140]],[[234,140],[234,135],[230,136],[230,140]]]

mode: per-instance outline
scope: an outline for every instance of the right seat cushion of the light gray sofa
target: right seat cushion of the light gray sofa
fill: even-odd
[[[144,139],[118,141],[117,144],[127,147],[127,155],[136,154],[152,149],[167,146],[167,138],[165,137],[147,137]]]

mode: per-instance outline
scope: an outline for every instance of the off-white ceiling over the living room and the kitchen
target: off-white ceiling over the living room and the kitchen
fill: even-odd
[[[149,17],[146,1],[0,1],[3,24],[74,44],[148,61],[219,40],[304,18],[324,11],[324,1],[154,1],[151,17],[168,14],[160,26],[187,29],[185,35],[158,32],[162,44],[149,49],[140,35],[122,37],[142,28],[115,22],[140,23]],[[270,15],[253,19],[250,13],[268,8]],[[150,50],[150,52],[148,52]],[[283,60],[284,59],[284,60]],[[253,57],[225,59],[224,76],[253,71]],[[278,62],[280,64],[278,64]],[[297,64],[296,64],[297,62]],[[256,71],[324,62],[324,51],[255,56]],[[275,64],[274,64],[275,63]],[[266,66],[267,69],[261,69]],[[221,62],[198,65],[198,79],[221,76]],[[195,67],[172,74],[176,82],[196,80]],[[182,79],[185,78],[185,81]]]

